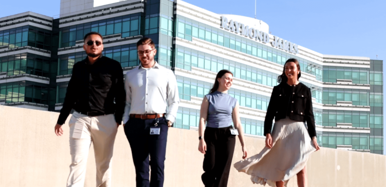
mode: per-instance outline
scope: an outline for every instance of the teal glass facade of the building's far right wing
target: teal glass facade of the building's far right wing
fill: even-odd
[[[350,110],[323,110],[323,126],[337,127],[349,124],[352,128],[366,128],[369,133],[322,133],[322,145],[337,148],[352,146],[353,150],[383,153],[383,61],[370,60],[369,68],[323,66],[323,82],[352,83],[369,89],[323,88],[323,104],[339,106],[348,104]],[[334,63],[328,62],[327,63]],[[327,106],[326,105],[326,106]],[[369,111],[361,111],[368,108]]]

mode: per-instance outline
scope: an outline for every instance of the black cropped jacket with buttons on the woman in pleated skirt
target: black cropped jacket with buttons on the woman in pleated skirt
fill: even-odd
[[[303,83],[295,86],[280,83],[273,87],[264,120],[264,136],[271,133],[274,118],[275,121],[279,121],[279,119],[284,119],[286,116],[295,121],[306,122],[310,137],[316,136],[311,89]]]

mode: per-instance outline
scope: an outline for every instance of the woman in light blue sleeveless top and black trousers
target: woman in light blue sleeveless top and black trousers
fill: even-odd
[[[239,104],[237,99],[227,93],[232,83],[233,74],[230,71],[219,71],[213,88],[208,95],[205,95],[201,104],[198,150],[205,154],[204,173],[201,175],[205,187],[227,187],[236,134],[239,134],[242,158],[247,157],[239,117]],[[232,122],[237,131],[232,128]]]

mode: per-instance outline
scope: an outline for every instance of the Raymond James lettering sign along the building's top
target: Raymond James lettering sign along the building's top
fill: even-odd
[[[230,20],[228,22],[228,19],[225,16],[221,16],[221,27],[225,30],[233,31],[236,34],[239,33],[240,35],[255,39],[259,42],[271,43],[274,48],[279,48],[294,54],[299,53],[297,44],[286,41],[277,36],[273,36],[273,41],[270,41],[268,33],[259,31],[253,27],[249,28],[249,26],[245,26],[244,24],[237,21]]]

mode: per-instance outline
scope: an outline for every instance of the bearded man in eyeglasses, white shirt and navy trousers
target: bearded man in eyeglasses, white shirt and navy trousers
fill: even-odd
[[[154,61],[157,49],[150,38],[137,42],[137,53],[141,65],[125,77],[124,129],[132,151],[136,186],[163,187],[168,128],[176,119],[179,103],[177,81],[173,71]]]

